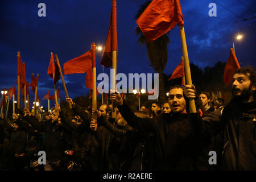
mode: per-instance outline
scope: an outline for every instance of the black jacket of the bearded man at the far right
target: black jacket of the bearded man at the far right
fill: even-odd
[[[193,123],[204,137],[222,132],[222,170],[256,170],[256,103],[232,100],[222,115],[214,112],[205,121]]]

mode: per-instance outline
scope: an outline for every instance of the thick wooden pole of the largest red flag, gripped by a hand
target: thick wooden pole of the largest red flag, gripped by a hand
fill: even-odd
[[[191,72],[190,72],[190,66],[189,66],[189,60],[188,60],[188,48],[187,48],[187,42],[185,38],[185,31],[183,26],[179,26],[180,29],[180,39],[181,39],[181,46],[182,46],[182,52],[184,56],[184,67],[185,67],[185,76],[186,81],[188,85],[192,85],[192,79],[191,79]],[[189,100],[189,111],[190,113],[196,113],[196,104],[194,99]]]

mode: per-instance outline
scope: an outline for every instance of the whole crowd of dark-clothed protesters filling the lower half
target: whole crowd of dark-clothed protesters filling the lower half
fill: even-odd
[[[255,170],[255,89],[255,71],[239,69],[226,106],[222,98],[213,102],[207,92],[196,93],[194,85],[174,85],[168,101],[137,111],[118,92],[111,94],[115,116],[112,105],[85,110],[72,98],[66,98],[71,112],[56,105],[42,119],[28,109],[9,122],[2,114],[0,170]],[[190,113],[192,98],[197,113]],[[39,151],[46,164],[39,164]]]

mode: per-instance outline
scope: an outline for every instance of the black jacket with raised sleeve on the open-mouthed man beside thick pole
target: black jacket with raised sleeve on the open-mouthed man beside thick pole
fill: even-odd
[[[193,170],[197,158],[196,139],[187,114],[160,114],[155,118],[138,118],[123,103],[118,106],[131,127],[155,134],[155,170]]]

